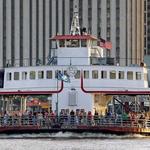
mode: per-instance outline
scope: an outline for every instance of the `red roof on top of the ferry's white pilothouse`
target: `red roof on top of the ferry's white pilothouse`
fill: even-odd
[[[97,40],[96,37],[92,35],[56,35],[51,40]]]

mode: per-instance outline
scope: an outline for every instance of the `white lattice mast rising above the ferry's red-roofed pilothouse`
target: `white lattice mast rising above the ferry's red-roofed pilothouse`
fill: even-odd
[[[71,23],[71,30],[70,34],[71,35],[80,35],[80,25],[79,25],[79,15],[78,15],[78,10],[79,10],[79,4],[78,0],[74,0],[74,7],[73,7],[73,19]]]

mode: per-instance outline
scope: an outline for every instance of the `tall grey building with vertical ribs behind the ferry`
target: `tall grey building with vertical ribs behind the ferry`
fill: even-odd
[[[112,42],[108,56],[143,61],[143,0],[0,0],[0,67],[46,64],[55,48],[49,37],[69,34],[75,3],[81,27]]]

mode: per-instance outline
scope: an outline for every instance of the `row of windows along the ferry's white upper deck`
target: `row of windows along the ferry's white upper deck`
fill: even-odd
[[[7,73],[7,80],[35,80],[35,79],[53,79],[57,78],[57,73],[62,71],[55,71],[53,74],[52,70],[47,71],[23,71],[23,72],[8,72]],[[67,75],[67,71],[63,71],[64,75]],[[77,70],[75,74],[75,79],[79,79],[81,77],[81,71]],[[141,72],[133,72],[133,71],[106,71],[106,70],[92,70],[91,77],[90,77],[90,71],[84,70],[83,71],[83,78],[84,79],[127,79],[127,80],[141,80],[142,79],[142,73]],[[144,80],[147,80],[147,74],[144,74]]]

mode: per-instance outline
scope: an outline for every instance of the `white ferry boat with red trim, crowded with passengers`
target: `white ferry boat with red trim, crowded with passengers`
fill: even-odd
[[[70,34],[56,35],[50,40],[56,42],[57,48],[53,51],[54,55],[48,58],[47,65],[7,67],[0,70],[2,112],[0,133],[41,131],[150,133],[149,118],[147,120],[142,118],[144,124],[141,127],[141,124],[138,124],[139,120],[135,123],[135,118],[134,121],[122,118],[118,121],[108,116],[99,117],[106,115],[108,103],[117,100],[116,97],[126,96],[124,99],[127,99],[131,96],[126,100],[128,104],[133,97],[136,102],[144,102],[145,98],[149,98],[149,72],[144,64],[120,66],[114,62],[114,58],[107,58],[105,49],[98,45],[100,40],[88,34],[85,29],[80,30],[77,11],[74,12]],[[139,95],[144,97],[142,101]],[[19,107],[15,106],[16,101],[19,101]],[[117,102],[126,107],[126,102],[120,100]],[[136,104],[134,106],[136,107]],[[56,118],[61,112],[66,114],[71,111],[75,114],[87,112],[87,115],[91,112],[91,118],[94,118],[95,112],[99,115],[96,120],[90,119],[90,122],[94,120],[94,123],[86,124],[89,118],[85,117],[86,123],[78,118],[78,124],[70,122],[65,126],[58,124],[60,123],[58,118],[55,118],[57,121],[54,121],[56,124],[53,122],[53,126],[50,124],[45,126],[46,119],[43,118],[44,127],[40,126],[38,121],[33,122],[30,117],[25,119],[18,115],[8,119],[8,115],[5,116],[7,112],[24,113],[28,109],[37,113],[47,109],[48,113],[55,112]],[[135,113],[137,112],[134,111]],[[75,114],[74,116],[77,116]],[[50,117],[50,120],[53,119]]]

